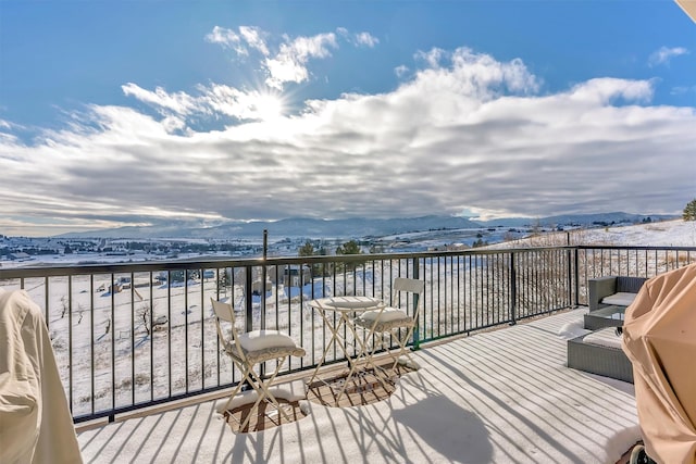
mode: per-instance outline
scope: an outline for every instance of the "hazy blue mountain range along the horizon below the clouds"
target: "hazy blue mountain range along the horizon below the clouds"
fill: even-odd
[[[247,239],[259,238],[268,229],[272,237],[307,237],[307,238],[362,238],[381,237],[394,234],[413,231],[468,229],[482,227],[544,227],[556,226],[592,226],[600,224],[635,224],[650,217],[655,221],[674,218],[667,215],[639,215],[627,213],[601,213],[585,215],[560,215],[540,218],[502,218],[487,222],[474,222],[467,217],[456,216],[422,216],[388,220],[371,220],[353,217],[347,220],[311,220],[286,218],[275,222],[234,222],[216,226],[206,226],[191,222],[162,222],[146,227],[120,227],[114,229],[91,230],[86,233],[70,233],[61,238],[210,238],[210,239]]]

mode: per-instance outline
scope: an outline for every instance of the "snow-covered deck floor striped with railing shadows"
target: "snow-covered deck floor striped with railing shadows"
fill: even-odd
[[[641,439],[633,386],[566,366],[573,310],[424,347],[385,401],[308,403],[301,421],[235,435],[217,401],[78,434],[85,462],[616,463]],[[219,400],[221,401],[221,400]]]

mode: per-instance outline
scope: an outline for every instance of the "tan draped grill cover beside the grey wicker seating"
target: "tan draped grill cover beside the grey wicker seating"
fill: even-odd
[[[623,329],[647,454],[696,463],[696,265],[647,280]]]

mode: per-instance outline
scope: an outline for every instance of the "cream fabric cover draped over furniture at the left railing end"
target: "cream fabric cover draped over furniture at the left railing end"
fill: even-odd
[[[82,463],[39,306],[0,289],[0,463]]]

